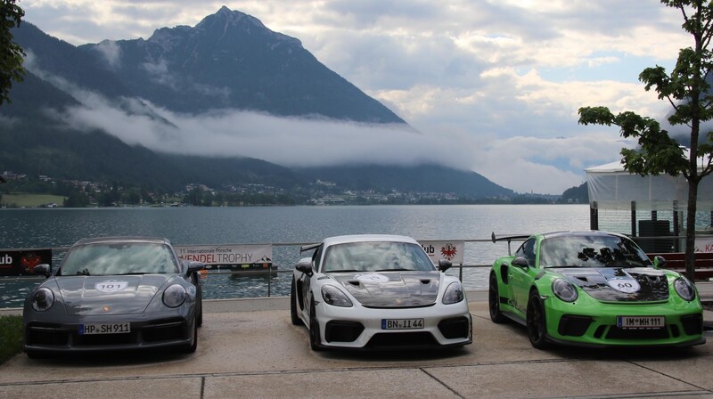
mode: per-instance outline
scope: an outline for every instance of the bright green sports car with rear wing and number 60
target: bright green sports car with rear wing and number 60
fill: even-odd
[[[683,275],[611,232],[550,232],[525,240],[490,270],[490,319],[527,327],[532,346],[694,346],[703,308]]]

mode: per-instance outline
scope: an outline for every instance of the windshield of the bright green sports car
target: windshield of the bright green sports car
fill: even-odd
[[[634,241],[615,235],[571,235],[540,244],[543,267],[645,267],[652,263]]]

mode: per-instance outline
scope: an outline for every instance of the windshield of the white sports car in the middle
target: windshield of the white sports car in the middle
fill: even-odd
[[[409,242],[348,242],[332,245],[324,256],[323,273],[433,271],[420,245]]]

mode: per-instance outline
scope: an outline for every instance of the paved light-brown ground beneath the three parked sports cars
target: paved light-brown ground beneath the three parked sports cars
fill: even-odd
[[[713,301],[713,283],[698,287]],[[537,350],[490,322],[486,292],[468,299],[472,345],[408,353],[313,352],[285,297],[206,301],[195,354],[19,354],[0,366],[0,398],[713,398],[713,331],[688,349]]]

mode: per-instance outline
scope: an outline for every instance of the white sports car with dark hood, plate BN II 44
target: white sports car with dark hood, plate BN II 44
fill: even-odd
[[[290,310],[313,350],[417,348],[472,342],[461,282],[397,235],[350,235],[306,245],[292,275]]]

